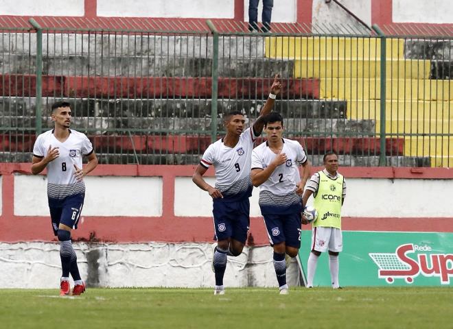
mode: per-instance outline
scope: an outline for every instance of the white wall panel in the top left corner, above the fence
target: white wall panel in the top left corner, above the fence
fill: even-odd
[[[84,16],[84,0],[0,0],[0,15]]]

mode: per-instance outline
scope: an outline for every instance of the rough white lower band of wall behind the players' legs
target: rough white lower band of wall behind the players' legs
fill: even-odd
[[[209,243],[73,243],[83,280],[95,276],[100,287],[213,287]],[[0,288],[58,289],[61,276],[58,243],[0,243]],[[309,252],[307,250],[307,252]],[[99,256],[89,266],[89,253]],[[91,254],[93,256],[93,254]],[[90,273],[89,273],[90,272]],[[295,259],[288,284],[299,285]],[[271,247],[245,247],[229,257],[226,287],[277,287]],[[71,283],[72,285],[72,283]],[[276,288],[277,294],[277,288]]]

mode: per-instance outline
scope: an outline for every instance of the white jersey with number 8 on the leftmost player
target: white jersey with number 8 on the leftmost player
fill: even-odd
[[[74,164],[82,169],[82,156],[93,152],[90,140],[75,130],[69,130],[66,141],[60,142],[54,136],[54,130],[40,134],[33,147],[33,156],[44,158],[49,147],[58,147],[60,156],[47,164],[47,195],[51,199],[63,199],[68,195],[84,193],[83,181],[75,180]]]

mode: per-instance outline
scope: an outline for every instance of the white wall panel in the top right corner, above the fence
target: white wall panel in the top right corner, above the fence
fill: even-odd
[[[453,23],[452,0],[393,0],[394,23]]]

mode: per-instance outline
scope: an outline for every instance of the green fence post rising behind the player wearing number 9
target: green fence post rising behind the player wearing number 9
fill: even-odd
[[[211,143],[217,139],[217,97],[218,97],[218,65],[219,65],[219,34],[210,20],[206,21],[212,32],[212,95],[211,95]]]

